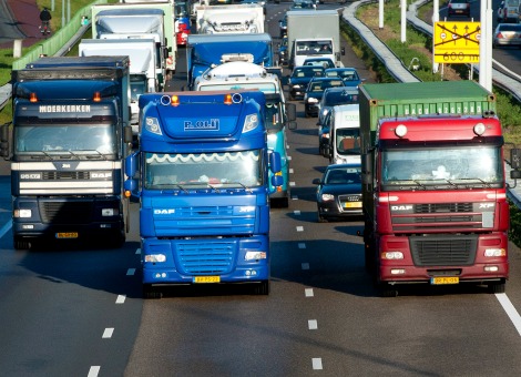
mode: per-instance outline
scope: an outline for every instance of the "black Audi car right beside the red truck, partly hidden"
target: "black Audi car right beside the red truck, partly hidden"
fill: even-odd
[[[361,165],[334,164],[326,167],[317,185],[318,222],[334,218],[354,218],[361,212]]]

